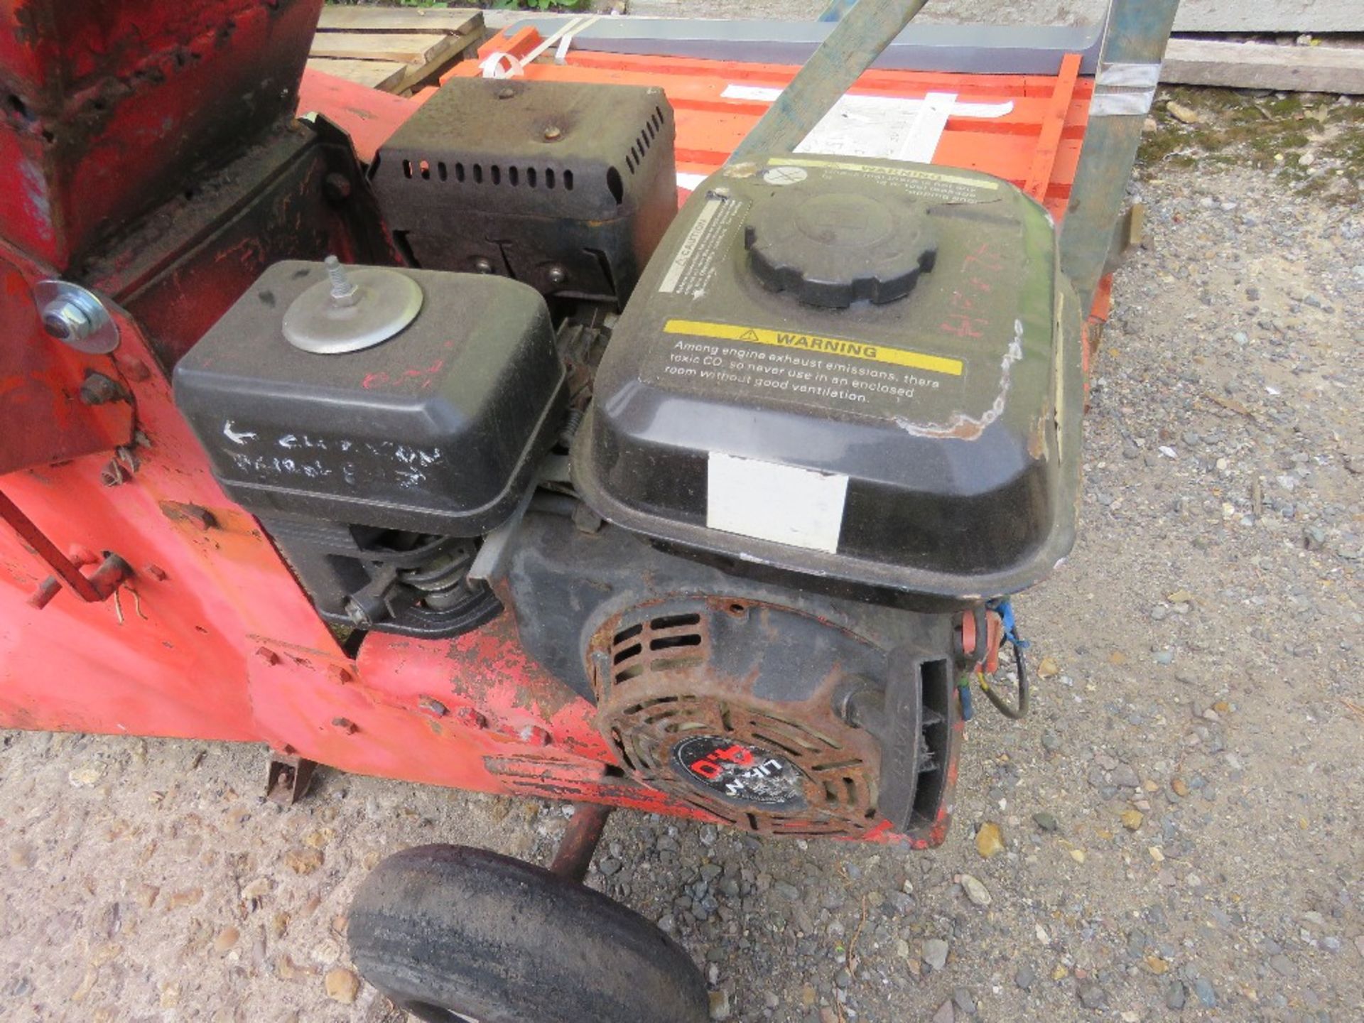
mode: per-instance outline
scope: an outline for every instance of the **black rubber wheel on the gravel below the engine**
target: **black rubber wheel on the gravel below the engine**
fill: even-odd
[[[702,1023],[705,981],[637,913],[466,846],[379,863],[351,907],[364,979],[427,1023]]]

